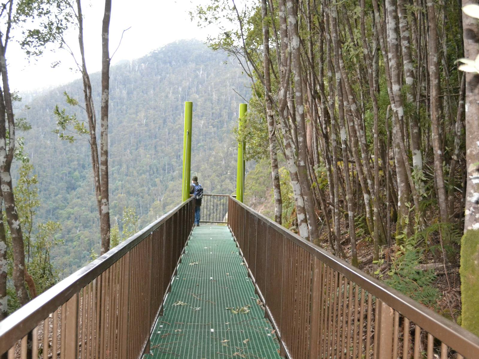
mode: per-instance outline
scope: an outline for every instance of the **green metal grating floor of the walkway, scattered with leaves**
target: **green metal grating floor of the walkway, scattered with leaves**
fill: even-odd
[[[143,358],[280,358],[242,262],[227,226],[194,227]]]

